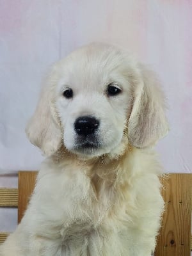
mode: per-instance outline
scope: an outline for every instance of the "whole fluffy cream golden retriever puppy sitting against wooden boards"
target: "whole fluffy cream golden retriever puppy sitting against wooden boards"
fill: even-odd
[[[154,145],[168,131],[153,72],[90,44],[54,64],[26,133],[47,158],[1,256],[149,256],[164,202]]]

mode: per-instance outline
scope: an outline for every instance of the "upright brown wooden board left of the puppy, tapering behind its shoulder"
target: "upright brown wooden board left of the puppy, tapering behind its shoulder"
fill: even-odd
[[[35,187],[37,172],[19,172],[18,179],[18,223],[26,211],[31,193]]]

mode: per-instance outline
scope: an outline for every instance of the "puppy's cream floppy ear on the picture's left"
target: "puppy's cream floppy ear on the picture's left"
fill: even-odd
[[[26,127],[26,134],[31,143],[51,156],[61,147],[62,131],[56,106],[54,105],[54,84],[56,76],[52,70],[40,93],[40,99],[34,115]]]

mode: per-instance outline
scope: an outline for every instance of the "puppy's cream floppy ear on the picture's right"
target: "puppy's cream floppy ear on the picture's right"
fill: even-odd
[[[164,94],[156,75],[139,65],[141,81],[134,89],[132,112],[128,122],[128,137],[134,147],[156,144],[168,132]]]

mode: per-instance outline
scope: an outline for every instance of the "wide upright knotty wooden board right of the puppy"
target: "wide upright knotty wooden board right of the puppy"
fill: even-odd
[[[156,256],[189,256],[191,239],[192,174],[174,173],[163,180],[166,209]]]

